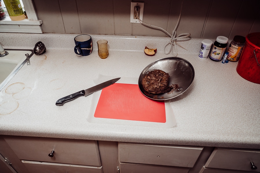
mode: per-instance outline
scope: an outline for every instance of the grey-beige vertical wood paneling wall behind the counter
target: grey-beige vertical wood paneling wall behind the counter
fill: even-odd
[[[34,0],[44,33],[167,36],[159,29],[130,23],[131,0]],[[166,29],[176,26],[181,0],[143,0],[143,21]],[[192,38],[246,36],[260,32],[259,0],[184,0],[177,35]]]

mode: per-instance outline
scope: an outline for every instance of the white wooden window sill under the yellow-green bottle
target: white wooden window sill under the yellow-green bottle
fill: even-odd
[[[12,21],[9,16],[0,21],[0,32],[15,32],[15,33],[40,33],[42,34],[42,20],[31,21],[23,19],[21,21]]]

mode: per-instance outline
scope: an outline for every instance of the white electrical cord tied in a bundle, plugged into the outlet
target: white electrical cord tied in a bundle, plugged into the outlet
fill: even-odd
[[[181,10],[182,10],[182,4],[183,4],[183,1],[181,2]],[[183,49],[185,49],[183,46],[181,46],[180,44],[177,43],[177,39],[189,37],[189,36],[190,36],[190,33],[179,34],[179,35],[176,37],[176,28],[178,27],[179,22],[180,22],[181,11],[180,11],[180,15],[179,15],[178,22],[177,22],[177,24],[176,24],[174,30],[172,31],[172,35],[171,35],[170,33],[168,33],[165,29],[161,28],[161,27],[158,27],[158,26],[155,26],[155,25],[151,25],[151,24],[149,24],[149,23],[145,23],[144,21],[142,21],[142,20],[139,18],[138,12],[137,12],[137,17],[138,17],[138,19],[139,19],[142,23],[144,23],[144,24],[146,24],[146,25],[149,25],[149,26],[151,26],[151,27],[159,28],[159,29],[163,30],[164,32],[166,32],[166,33],[171,37],[170,42],[169,42],[168,44],[166,44],[166,46],[168,46],[169,44],[171,44],[170,50],[169,50],[168,53],[166,53],[166,52],[165,52],[166,46],[165,46],[165,47],[164,47],[164,54],[169,54],[170,52],[172,52],[172,55],[173,55],[173,56],[177,56],[177,47],[176,47],[176,44],[177,44],[178,46],[182,47]],[[175,54],[173,54],[173,46],[175,47]],[[185,49],[185,50],[187,50],[187,49]]]

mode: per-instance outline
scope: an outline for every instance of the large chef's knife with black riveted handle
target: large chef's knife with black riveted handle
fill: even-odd
[[[96,91],[99,91],[99,90],[102,90],[103,88],[108,87],[109,85],[112,85],[113,83],[116,83],[116,81],[118,81],[119,79],[120,79],[120,77],[116,78],[116,79],[111,79],[109,81],[103,82],[101,84],[98,84],[98,85],[88,88],[86,90],[82,90],[82,91],[76,92],[74,94],[70,94],[66,97],[60,98],[59,100],[56,101],[56,105],[62,106],[64,103],[73,101],[80,96],[88,96]]]

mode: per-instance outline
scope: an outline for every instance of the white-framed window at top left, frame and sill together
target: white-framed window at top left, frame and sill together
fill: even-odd
[[[22,6],[26,10],[28,19],[12,21],[9,16],[6,16],[4,20],[0,21],[0,32],[42,33],[42,20],[38,20],[32,0],[23,0]],[[7,10],[5,12],[8,14]]]

